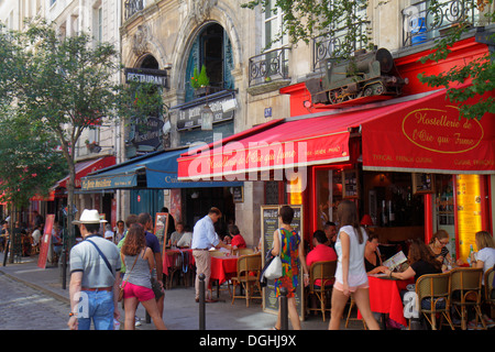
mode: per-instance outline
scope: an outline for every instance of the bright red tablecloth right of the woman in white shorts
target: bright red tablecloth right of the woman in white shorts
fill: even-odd
[[[404,306],[400,299],[400,290],[406,289],[408,284],[414,284],[414,279],[389,279],[375,276],[367,277],[370,283],[370,306],[372,311],[387,314],[388,317],[407,327],[404,318]],[[361,312],[358,318],[362,319]]]

